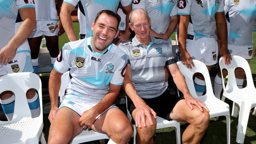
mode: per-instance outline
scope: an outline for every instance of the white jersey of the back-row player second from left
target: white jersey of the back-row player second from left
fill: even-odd
[[[55,0],[34,0],[36,20],[58,20]]]

